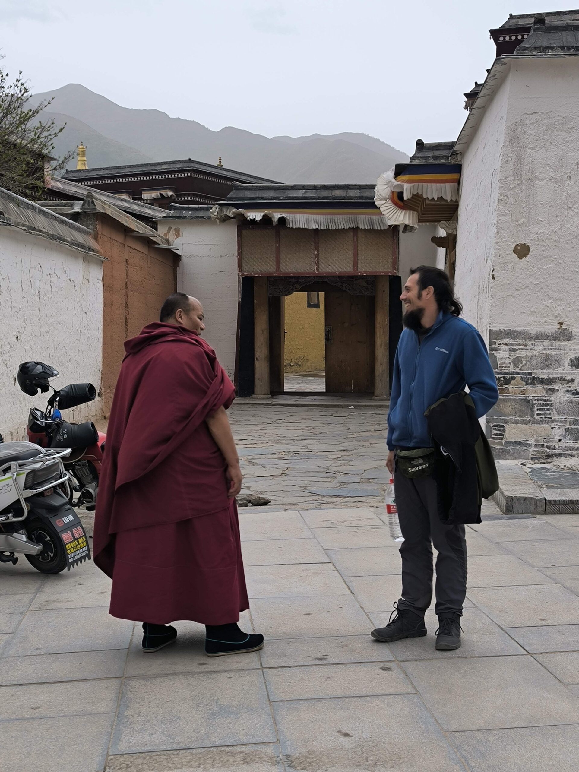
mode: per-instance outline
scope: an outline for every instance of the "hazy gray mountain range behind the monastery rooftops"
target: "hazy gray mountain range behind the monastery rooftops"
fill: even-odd
[[[90,167],[109,165],[103,157],[113,158],[114,165],[174,158],[215,164],[221,156],[230,169],[283,182],[368,182],[408,161],[408,155],[367,134],[269,138],[231,126],[213,131],[161,110],[120,107],[79,83],[36,94],[32,103],[49,99],[49,111],[68,123],[59,137],[59,154],[74,150],[82,140]],[[93,130],[92,139],[89,134],[80,137],[83,126]]]

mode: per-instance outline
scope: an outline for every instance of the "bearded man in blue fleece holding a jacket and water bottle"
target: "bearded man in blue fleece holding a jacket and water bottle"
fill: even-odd
[[[468,431],[472,436],[474,423],[476,439],[480,436],[477,419],[493,407],[499,391],[482,337],[472,324],[460,318],[462,306],[455,299],[444,271],[429,266],[412,269],[401,301],[405,305],[406,329],[401,334],[394,360],[386,466],[394,474],[398,519],[404,537],[400,547],[402,597],[394,603],[394,619],[371,635],[384,642],[426,635],[424,618],[432,600],[434,544],[438,552],[435,645],[445,651],[460,646],[460,618],[466,597],[466,540],[462,523],[480,522],[480,506],[478,520],[462,518],[461,523],[458,516],[454,521],[443,522],[441,491],[435,477],[435,469],[439,467],[435,462],[440,459],[445,463],[450,443],[446,449],[433,447],[435,442],[427,414],[441,401],[447,401],[443,414],[445,434],[455,442],[460,425],[458,421],[455,425],[447,420],[448,415],[453,415],[449,413],[449,405],[452,409],[462,406],[465,411],[466,399],[471,400]],[[466,386],[469,394],[465,398],[461,392]],[[458,438],[458,443],[461,447],[462,438]],[[456,475],[453,482],[459,477],[462,477],[461,483],[464,482],[465,475]],[[469,478],[469,485],[471,483],[475,486],[476,498],[476,469]]]

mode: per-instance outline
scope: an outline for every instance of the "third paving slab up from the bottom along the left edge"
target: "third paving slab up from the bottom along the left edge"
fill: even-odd
[[[0,665],[0,685],[120,678],[126,660],[124,648],[4,657]]]

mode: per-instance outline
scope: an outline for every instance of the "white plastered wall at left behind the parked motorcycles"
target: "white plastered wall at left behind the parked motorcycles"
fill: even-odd
[[[42,236],[0,228],[0,433],[25,438],[29,409],[49,394],[29,397],[16,383],[19,365],[56,367],[56,387],[90,381],[100,391],[103,347],[103,263]],[[102,415],[100,398],[64,413],[69,421]]]

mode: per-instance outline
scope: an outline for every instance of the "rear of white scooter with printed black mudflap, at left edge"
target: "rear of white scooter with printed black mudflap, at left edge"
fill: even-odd
[[[83,524],[69,504],[68,448],[3,442],[0,435],[0,563],[20,554],[42,574],[90,560]]]

